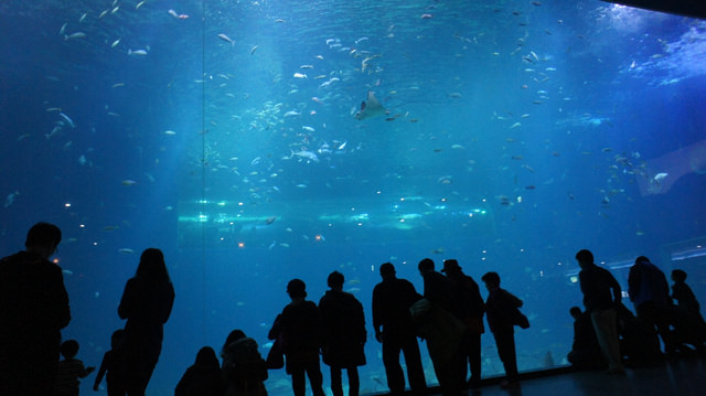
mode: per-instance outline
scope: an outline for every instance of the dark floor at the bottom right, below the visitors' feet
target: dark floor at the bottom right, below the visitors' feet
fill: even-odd
[[[706,396],[706,358],[667,361],[655,367],[628,370],[627,376],[603,372],[555,370],[525,373],[520,389],[500,388],[498,378],[484,381],[469,396]],[[439,389],[436,389],[437,392]],[[437,394],[438,396],[438,394]]]

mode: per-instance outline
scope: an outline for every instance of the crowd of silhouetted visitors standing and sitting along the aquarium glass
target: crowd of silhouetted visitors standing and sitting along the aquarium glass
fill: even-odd
[[[78,343],[62,343],[61,330],[71,321],[68,295],[62,269],[50,257],[61,242],[58,227],[38,223],[28,233],[26,249],[0,260],[0,394],[78,395],[79,379],[95,367],[76,358]],[[672,271],[671,293],[664,272],[640,256],[630,268],[628,296],[637,315],[622,303],[623,292],[611,272],[593,263],[590,250],[576,254],[585,311],[570,309],[574,344],[568,361],[580,370],[606,370],[624,375],[625,366],[660,362],[664,355],[703,351],[706,323],[686,272]],[[520,311],[523,301],[500,287],[496,272],[481,280],[488,290],[483,301],[475,280],[463,274],[456,259],[440,271],[434,260],[419,261],[422,293],[397,278],[395,266],[379,266],[382,281],[373,289],[374,338],[382,343],[382,360],[392,395],[427,393],[418,339],[425,341],[443,396],[478,389],[481,378],[481,334],[485,315],[505,377],[501,387],[520,388],[514,328],[530,322]],[[349,396],[359,396],[357,367],[366,363],[365,314],[361,302],[343,291],[344,276],[328,277],[330,290],[319,303],[307,300],[307,286],[291,279],[291,302],[275,319],[268,338],[274,341],[267,358],[257,342],[233,330],[221,351],[202,347],[195,362],[175,387],[175,396],[266,396],[268,370],[285,367],[295,396],[304,396],[307,378],[313,396],[324,396],[320,361],[330,367],[331,392],[343,396],[345,370]],[[127,320],[116,330],[94,382],[98,390],[106,378],[109,396],[143,396],[162,347],[163,324],[169,320],[174,288],[164,256],[146,249],[125,287],[118,315]],[[664,345],[662,350],[660,340]],[[64,358],[60,360],[60,355]],[[470,377],[468,376],[470,366]]]

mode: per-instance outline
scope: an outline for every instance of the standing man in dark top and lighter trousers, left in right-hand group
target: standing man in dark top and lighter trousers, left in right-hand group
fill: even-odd
[[[590,250],[579,250],[576,260],[581,268],[578,279],[584,293],[584,306],[591,315],[598,344],[608,360],[608,374],[624,375],[616,313],[616,306],[621,301],[620,283],[607,269],[593,263]]]

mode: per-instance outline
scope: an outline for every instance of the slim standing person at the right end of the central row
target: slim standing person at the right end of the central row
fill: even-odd
[[[520,387],[520,375],[517,373],[515,330],[512,315],[515,309],[522,307],[522,300],[500,288],[500,276],[496,272],[485,272],[481,280],[488,289],[488,299],[485,300],[488,325],[493,333],[498,355],[505,368],[505,379],[500,386],[505,389],[516,389]]]

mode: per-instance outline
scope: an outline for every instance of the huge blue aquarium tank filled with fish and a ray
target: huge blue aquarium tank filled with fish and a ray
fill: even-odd
[[[646,255],[706,297],[704,21],[592,0],[4,0],[0,21],[2,255],[61,226],[63,334],[97,365],[161,248],[150,395],[232,329],[266,355],[295,277],[318,302],[339,270],[365,307],[363,393],[387,388],[385,261],[418,290],[424,257],[498,271],[532,322],[521,371],[566,364],[578,249],[623,287]],[[281,370],[267,388],[291,393]]]

